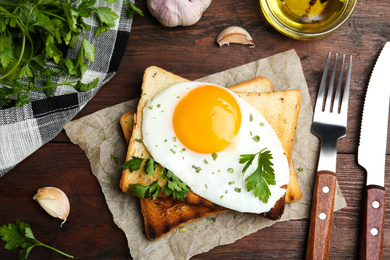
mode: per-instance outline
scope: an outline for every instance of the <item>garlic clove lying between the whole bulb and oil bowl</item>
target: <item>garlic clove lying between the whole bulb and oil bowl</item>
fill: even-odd
[[[230,43],[248,44],[252,45],[252,47],[255,46],[250,34],[239,26],[227,27],[220,32],[216,41],[219,44],[219,47],[222,47],[223,45],[229,46]]]

